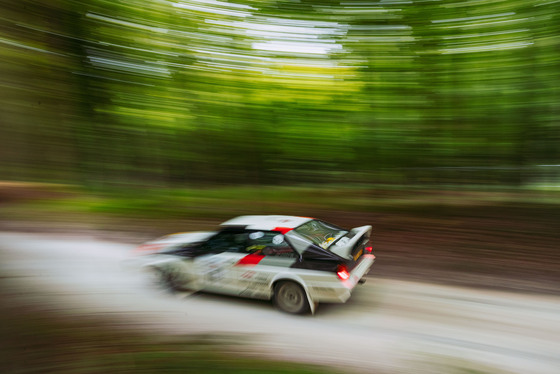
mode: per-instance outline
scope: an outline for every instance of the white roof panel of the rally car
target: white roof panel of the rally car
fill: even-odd
[[[223,227],[243,227],[249,230],[267,230],[286,232],[313,218],[283,215],[239,216],[222,223]]]

